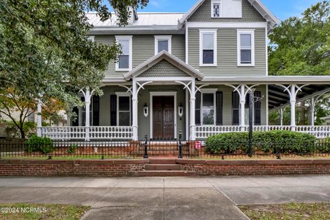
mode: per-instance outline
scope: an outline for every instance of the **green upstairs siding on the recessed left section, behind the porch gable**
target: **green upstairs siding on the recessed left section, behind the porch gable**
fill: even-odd
[[[126,34],[129,35],[129,34]],[[107,45],[113,45],[115,41],[114,35],[97,35],[95,41],[104,43]],[[184,34],[172,35],[172,54],[182,61],[186,60],[186,43]],[[148,60],[152,56],[155,56],[155,35],[153,34],[135,34],[132,38],[132,66],[137,67],[144,61]],[[126,72],[116,72],[115,62],[109,63],[109,68],[105,72],[105,78],[109,77],[122,77],[122,74]]]

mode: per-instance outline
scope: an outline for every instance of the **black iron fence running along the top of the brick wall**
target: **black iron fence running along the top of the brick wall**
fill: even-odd
[[[181,135],[180,135],[181,137]],[[240,157],[330,157],[330,141],[281,143],[235,142],[231,144],[208,145],[201,140],[107,140],[107,141],[52,141],[43,144],[29,144],[24,140],[0,140],[0,158],[39,159],[107,159],[183,157],[235,159]],[[250,153],[249,153],[250,152]]]

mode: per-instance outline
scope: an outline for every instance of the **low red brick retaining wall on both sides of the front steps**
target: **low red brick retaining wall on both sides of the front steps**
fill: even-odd
[[[28,160],[0,159],[0,176],[120,177],[144,169],[148,159]],[[210,175],[330,174],[330,159],[204,160],[177,159],[181,170]]]

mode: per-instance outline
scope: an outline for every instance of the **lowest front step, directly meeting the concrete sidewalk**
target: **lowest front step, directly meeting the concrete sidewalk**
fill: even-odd
[[[143,170],[130,172],[133,177],[191,177],[196,173],[184,170]]]

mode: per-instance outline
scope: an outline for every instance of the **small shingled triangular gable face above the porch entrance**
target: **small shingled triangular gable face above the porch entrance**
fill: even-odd
[[[168,61],[162,60],[139,77],[189,77],[189,75]]]

